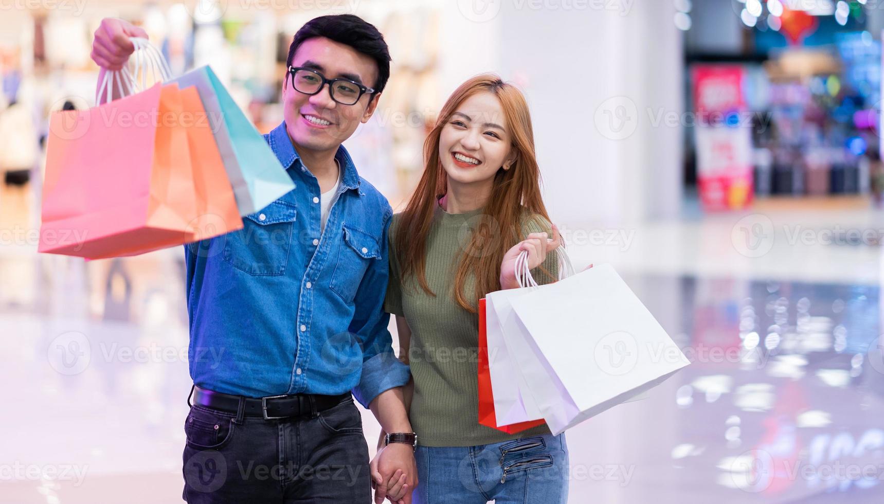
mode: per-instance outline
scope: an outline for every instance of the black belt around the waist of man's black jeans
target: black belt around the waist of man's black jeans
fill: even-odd
[[[245,416],[257,416],[264,420],[293,416],[312,416],[314,413],[334,408],[350,399],[350,393],[340,395],[320,395],[317,393],[292,393],[269,397],[241,397],[229,393],[213,392],[194,385],[191,394],[194,404],[229,413],[238,413],[240,399],[245,399]],[[188,401],[189,403],[189,401]]]

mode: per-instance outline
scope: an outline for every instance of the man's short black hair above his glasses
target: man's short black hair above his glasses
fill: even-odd
[[[374,25],[353,14],[320,16],[310,19],[298,30],[298,33],[294,34],[292,45],[288,48],[286,67],[292,65],[294,52],[298,50],[301,43],[313,37],[325,37],[334,42],[346,44],[374,59],[377,63],[377,82],[374,84],[363,82],[362,84],[375,88],[375,93],[384,90],[386,81],[390,78],[390,49],[384,42],[384,35],[377,31]]]

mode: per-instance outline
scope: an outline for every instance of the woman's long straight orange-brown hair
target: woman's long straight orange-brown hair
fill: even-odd
[[[461,240],[466,243],[454,274],[453,294],[461,308],[474,313],[476,300],[500,289],[500,262],[509,248],[524,240],[522,225],[525,218],[539,215],[549,222],[540,195],[540,169],[534,155],[531,116],[521,91],[493,73],[477,75],[454,90],[439,112],[436,126],[423,142],[423,175],[400,216],[393,237],[403,282],[416,278],[425,292],[436,295],[427,284],[425,269],[433,212],[438,197],[445,195],[448,188],[446,172],[439,158],[439,137],[453,112],[464,100],[478,93],[497,96],[516,156],[508,170],[500,168],[494,175],[492,195],[484,206],[484,217],[477,219],[473,233]],[[476,279],[472,295],[463,292],[470,274]]]

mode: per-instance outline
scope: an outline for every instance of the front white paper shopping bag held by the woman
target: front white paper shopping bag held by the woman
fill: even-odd
[[[507,333],[508,350],[554,434],[690,363],[610,264],[514,297],[512,306],[522,331]]]

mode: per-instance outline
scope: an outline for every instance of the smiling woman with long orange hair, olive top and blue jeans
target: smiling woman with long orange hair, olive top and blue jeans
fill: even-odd
[[[492,74],[467,80],[439,114],[424,158],[390,228],[385,302],[413,377],[405,394],[418,443],[414,502],[566,502],[564,435],[545,425],[511,435],[477,420],[478,300],[518,286],[522,250],[538,283],[557,269],[547,253],[559,235],[541,199],[522,93]]]

